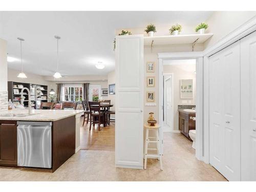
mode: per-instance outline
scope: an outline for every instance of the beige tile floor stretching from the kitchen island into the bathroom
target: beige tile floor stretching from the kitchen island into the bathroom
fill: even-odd
[[[84,134],[81,138],[88,138],[90,133],[84,127],[81,129],[81,133]],[[114,129],[114,126],[108,129]],[[97,133],[97,129],[94,132]],[[94,132],[90,134],[93,142],[85,142],[89,143],[90,147],[93,143],[100,146],[97,143],[102,141],[93,138],[97,137]],[[110,130],[100,131],[98,134],[103,137],[104,133],[110,133]],[[87,146],[88,144],[84,144],[84,147]],[[226,181],[215,168],[195,158],[191,142],[181,134],[164,133],[162,171],[156,159],[148,160],[146,170],[116,168],[115,152],[111,146],[108,146],[110,150],[104,151],[99,151],[95,147],[93,150],[80,150],[54,173],[1,167],[0,181]]]

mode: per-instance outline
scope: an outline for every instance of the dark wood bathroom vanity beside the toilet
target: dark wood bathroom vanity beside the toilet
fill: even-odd
[[[196,121],[193,120],[193,117],[196,117],[195,110],[183,110],[179,109],[179,130],[182,135],[184,135],[187,139],[192,141],[188,135],[189,130],[196,129]]]

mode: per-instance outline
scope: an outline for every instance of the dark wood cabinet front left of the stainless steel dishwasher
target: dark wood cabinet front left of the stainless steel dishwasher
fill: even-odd
[[[17,121],[0,120],[0,166],[17,166]]]

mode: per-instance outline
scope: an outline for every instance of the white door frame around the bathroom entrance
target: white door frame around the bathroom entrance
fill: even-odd
[[[196,63],[196,105],[197,105],[197,145],[196,145],[196,157],[198,160],[203,160],[203,52],[176,52],[176,53],[158,53],[159,59],[159,118],[163,119],[163,60],[175,60],[175,59],[197,59]],[[159,122],[162,126],[162,121]],[[163,139],[162,131],[160,131],[160,138]],[[199,139],[201,138],[201,139]],[[162,142],[163,143],[163,142]],[[163,145],[163,144],[162,144]],[[161,150],[162,146],[161,145]]]

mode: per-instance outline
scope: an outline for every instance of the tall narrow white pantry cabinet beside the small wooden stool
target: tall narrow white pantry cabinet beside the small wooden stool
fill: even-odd
[[[143,169],[143,35],[116,36],[116,167]]]

